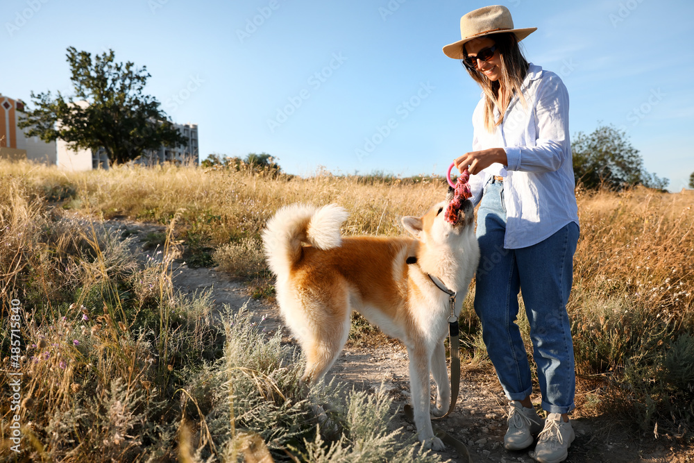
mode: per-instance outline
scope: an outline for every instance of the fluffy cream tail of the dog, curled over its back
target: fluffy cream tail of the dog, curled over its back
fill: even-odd
[[[284,274],[301,258],[301,244],[331,249],[342,242],[340,226],[348,212],[337,204],[316,208],[293,204],[277,211],[263,230],[262,241],[270,270]]]

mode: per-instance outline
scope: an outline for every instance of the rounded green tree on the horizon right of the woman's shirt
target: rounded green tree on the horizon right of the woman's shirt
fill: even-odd
[[[626,133],[611,125],[599,126],[590,135],[579,132],[571,151],[576,183],[581,182],[589,190],[622,190],[634,185],[662,190],[670,183],[667,178],[648,173]]]

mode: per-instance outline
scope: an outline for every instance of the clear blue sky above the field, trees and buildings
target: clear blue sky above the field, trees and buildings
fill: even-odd
[[[3,0],[0,93],[70,92],[65,49],[146,65],[147,91],[209,153],[285,171],[444,174],[471,149],[479,87],[441,47],[481,1]],[[531,62],[570,95],[571,135],[627,131],[679,191],[694,171],[691,0],[512,0]],[[361,151],[359,151],[361,150]]]

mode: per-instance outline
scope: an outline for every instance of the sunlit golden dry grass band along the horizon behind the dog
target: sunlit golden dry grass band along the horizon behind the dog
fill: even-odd
[[[394,180],[385,185],[324,171],[310,178],[273,178],[252,171],[171,166],[67,173],[4,162],[0,169],[22,178],[37,194],[56,196],[71,187],[74,198],[67,207],[98,212],[105,219],[127,216],[168,224],[180,211],[182,225],[204,229],[217,243],[257,234],[277,208],[296,202],[344,205],[355,212],[346,223],[347,234],[400,233],[399,214],[424,212],[434,196],[445,194],[441,182]]]

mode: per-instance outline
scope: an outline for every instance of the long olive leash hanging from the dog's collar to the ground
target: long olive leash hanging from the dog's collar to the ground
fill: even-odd
[[[416,260],[415,260],[416,262]],[[408,264],[409,258],[408,258]],[[414,262],[412,262],[414,263]],[[446,418],[450,412],[455,408],[455,403],[458,401],[458,392],[460,390],[460,344],[459,344],[459,326],[458,317],[455,316],[455,292],[444,285],[439,278],[431,276],[429,273],[426,274],[434,285],[441,289],[441,291],[448,294],[448,307],[450,308],[450,315],[448,316],[448,352],[450,355],[450,407],[446,414],[442,416],[432,416],[432,421]],[[412,410],[412,405],[405,405],[405,416],[411,421],[414,421],[414,410]],[[472,462],[470,453],[465,444],[463,444],[455,437],[452,437],[444,430],[440,429],[438,426],[433,426],[434,435],[441,439],[444,444],[448,444],[455,448],[458,453],[467,459],[468,462]]]

